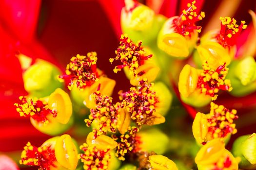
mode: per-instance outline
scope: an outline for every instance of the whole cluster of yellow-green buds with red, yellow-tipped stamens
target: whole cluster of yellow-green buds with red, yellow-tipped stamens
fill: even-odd
[[[206,106],[217,100],[219,90],[230,92],[233,89],[230,79],[238,78],[239,83],[245,86],[251,84],[250,87],[256,81],[256,62],[252,57],[232,62],[237,38],[247,27],[245,21],[237,25],[234,18],[220,17],[220,29],[205,34],[199,41],[198,33],[202,27],[197,26],[196,22],[204,17],[204,12],[197,11],[196,0],[188,3],[187,9],[180,16],[169,19],[155,14],[152,9],[136,0],[125,0],[125,7],[121,12],[124,34],[120,36],[116,56],[109,61],[120,61],[121,65],[116,66],[114,72],[118,73],[123,69],[133,87],[128,91],[119,91],[119,102],[114,102],[115,99],[111,97],[116,82],[97,68],[96,52],[72,57],[65,74],[59,76],[60,81],[66,81],[71,99],[68,93],[55,88],[61,84],[54,85],[55,91],[46,90],[45,95],[42,94],[45,88],[31,87],[30,84],[38,81],[38,78],[29,77],[40,67],[26,68],[24,82],[31,92],[30,96],[20,97],[21,103],[15,103],[21,117],[29,117],[39,131],[56,136],[69,129],[73,123],[72,107],[79,107],[90,112],[83,119],[93,129],[88,133],[86,143],[79,147],[81,153],[78,153],[76,142],[71,136],[56,136],[40,147],[28,142],[21,153],[20,164],[38,166],[39,170],[76,170],[81,168],[77,167],[80,159],[85,170],[115,170],[119,166],[118,161],[129,162],[136,159],[138,170],[177,170],[172,160],[160,155],[170,149],[170,138],[151,127],[165,122],[164,115],[172,100],[169,89],[161,82],[154,82],[165,80],[166,75],[159,73],[169,68],[170,62],[166,58],[184,59],[193,56],[193,61],[172,60],[174,65],[177,62],[184,66],[182,69],[174,69],[174,73],[179,75],[174,85],[178,86],[178,97],[182,104]],[[131,36],[128,37],[126,33]],[[142,47],[138,36],[142,37],[148,48]],[[184,61],[192,61],[192,64],[185,64]],[[250,67],[242,69],[241,65],[248,62]],[[160,65],[167,67],[159,67]],[[198,67],[192,67],[195,65]],[[229,75],[228,67],[234,70],[236,66],[239,66],[236,73]],[[49,68],[52,69],[51,75],[56,78],[59,70]],[[39,72],[42,72],[41,68]],[[44,85],[48,84],[49,82],[44,82]],[[250,89],[252,92],[256,88]],[[238,118],[236,110],[229,110],[213,102],[210,106],[209,114],[196,114],[192,126],[193,135],[201,147],[195,158],[198,170],[238,170],[240,160],[242,167],[256,166],[256,135],[242,137],[235,142],[235,148],[239,148],[239,152],[234,152],[239,158],[235,158],[225,149],[225,142],[237,132],[234,123]],[[79,113],[79,109],[74,113]],[[149,127],[143,131],[144,126]]]

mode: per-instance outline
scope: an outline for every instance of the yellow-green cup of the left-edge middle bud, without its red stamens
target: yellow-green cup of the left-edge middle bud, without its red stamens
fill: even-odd
[[[48,114],[46,116],[48,120],[47,124],[30,117],[32,125],[40,132],[51,136],[59,135],[68,130],[74,122],[72,117],[72,103],[69,95],[62,89],[57,88],[49,98],[44,99],[48,100],[49,109],[55,110],[57,116],[53,117],[52,114]]]

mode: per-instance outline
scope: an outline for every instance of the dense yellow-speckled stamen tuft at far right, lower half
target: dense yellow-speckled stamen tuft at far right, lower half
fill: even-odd
[[[207,115],[209,132],[213,138],[223,138],[228,134],[236,134],[236,124],[233,123],[238,119],[236,110],[229,110],[223,105],[217,105],[211,102],[211,111]]]

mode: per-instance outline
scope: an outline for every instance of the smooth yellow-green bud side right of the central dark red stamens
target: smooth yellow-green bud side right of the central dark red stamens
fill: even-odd
[[[171,106],[173,96],[166,85],[162,82],[157,82],[153,86],[154,91],[158,96],[158,103],[156,107],[156,113],[165,116]]]

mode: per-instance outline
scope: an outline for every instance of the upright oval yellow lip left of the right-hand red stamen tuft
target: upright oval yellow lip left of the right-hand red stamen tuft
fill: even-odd
[[[196,68],[193,68],[188,64],[182,68],[178,80],[178,91],[181,96],[188,97],[196,90],[198,76],[199,74],[197,73]]]

